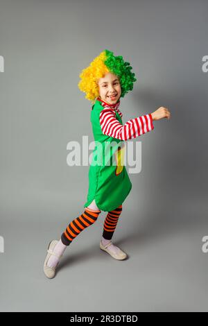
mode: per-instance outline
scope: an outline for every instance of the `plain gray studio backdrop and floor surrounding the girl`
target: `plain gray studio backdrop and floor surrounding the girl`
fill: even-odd
[[[1,311],[208,311],[207,1],[0,1]],[[141,173],[114,234],[105,212],[43,273],[51,239],[83,212],[89,166],[67,165],[67,143],[93,140],[82,69],[103,51],[136,74],[123,122],[171,111],[143,135]]]

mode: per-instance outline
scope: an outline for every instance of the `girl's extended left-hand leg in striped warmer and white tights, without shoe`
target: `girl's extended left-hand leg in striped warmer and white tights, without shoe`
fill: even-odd
[[[96,208],[93,205],[91,203],[89,207]],[[61,239],[55,245],[53,252],[58,256],[62,255],[67,246],[69,246],[71,241],[73,241],[73,239],[75,239],[78,234],[80,234],[80,232],[85,230],[85,228],[88,228],[88,226],[94,224],[100,213],[101,210],[98,209],[98,207],[97,209],[85,207],[85,212],[83,212],[83,214],[78,216],[78,218],[75,218],[73,221],[71,221],[71,223],[69,223],[66,230],[62,233]],[[58,257],[51,255],[47,262],[47,266],[55,267],[58,264],[58,261]]]

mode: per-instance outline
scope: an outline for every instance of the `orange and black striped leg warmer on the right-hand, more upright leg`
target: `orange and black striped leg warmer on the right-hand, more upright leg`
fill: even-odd
[[[114,209],[113,211],[110,211],[107,213],[107,216],[105,217],[105,222],[103,225],[103,238],[107,240],[111,240],[112,236],[114,234],[114,230],[116,229],[116,225],[119,220],[119,216],[122,212],[122,205],[120,205],[118,208]]]

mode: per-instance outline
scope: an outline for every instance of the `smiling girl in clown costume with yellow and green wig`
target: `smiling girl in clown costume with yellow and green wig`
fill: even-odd
[[[137,80],[131,69],[130,63],[125,62],[122,56],[114,56],[114,53],[105,50],[80,74],[78,87],[85,92],[85,98],[92,101],[91,122],[96,144],[89,167],[87,202],[84,212],[69,223],[60,240],[49,243],[44,261],[46,277],[55,276],[55,268],[64,250],[80,232],[95,223],[101,211],[107,212],[100,242],[101,250],[105,250],[114,259],[123,260],[127,257],[111,241],[122,212],[122,204],[132,188],[123,166],[125,140],[153,130],[154,120],[171,117],[168,109],[161,107],[123,125],[123,114],[119,110],[120,98],[133,89],[133,83]],[[103,163],[103,158],[107,155],[110,162],[113,161],[112,164],[109,164],[109,160],[108,164],[106,160]]]

